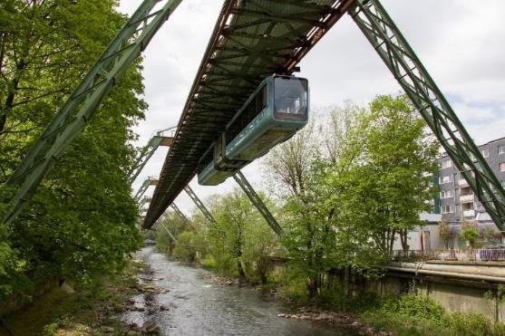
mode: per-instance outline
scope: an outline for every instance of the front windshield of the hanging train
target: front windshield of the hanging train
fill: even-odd
[[[274,98],[274,116],[277,120],[306,120],[306,79],[276,77],[274,80]]]

